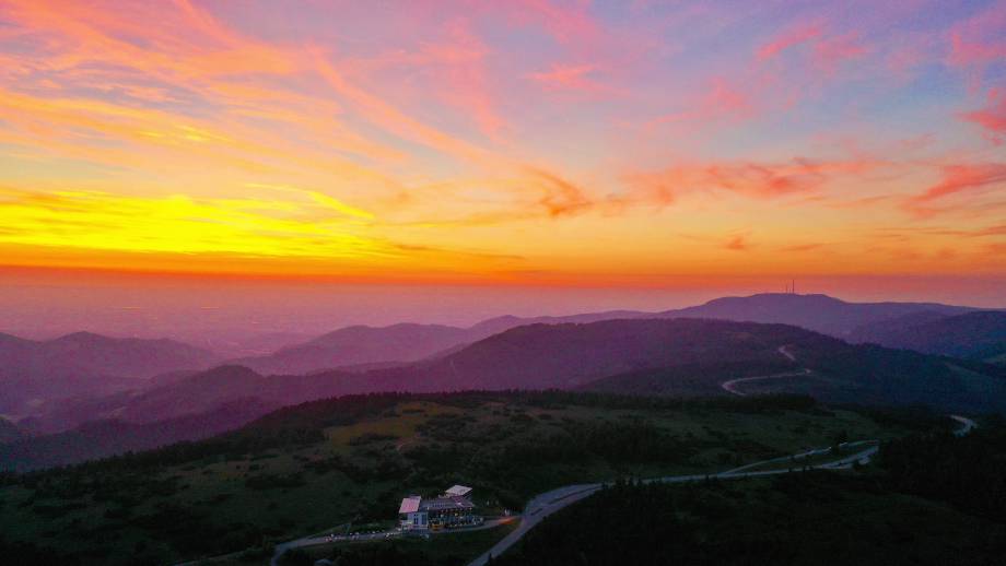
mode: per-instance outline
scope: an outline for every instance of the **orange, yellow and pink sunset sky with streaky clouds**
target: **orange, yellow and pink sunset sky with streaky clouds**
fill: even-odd
[[[1003,1],[0,0],[22,282],[1006,283],[1004,142]]]

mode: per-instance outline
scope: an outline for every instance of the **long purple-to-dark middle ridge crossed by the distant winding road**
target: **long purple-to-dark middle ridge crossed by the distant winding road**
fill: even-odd
[[[797,362],[780,353],[783,346]],[[786,325],[639,319],[517,327],[434,359],[367,372],[267,377],[223,366],[121,396],[118,403],[103,406],[102,416],[150,423],[244,398],[294,404],[374,391],[596,386],[612,392],[720,394],[720,385],[735,377],[804,367],[814,372],[812,377],[780,384],[843,402],[927,403],[957,410],[998,410],[1006,404],[1002,372],[986,370],[982,364],[849,344]]]

